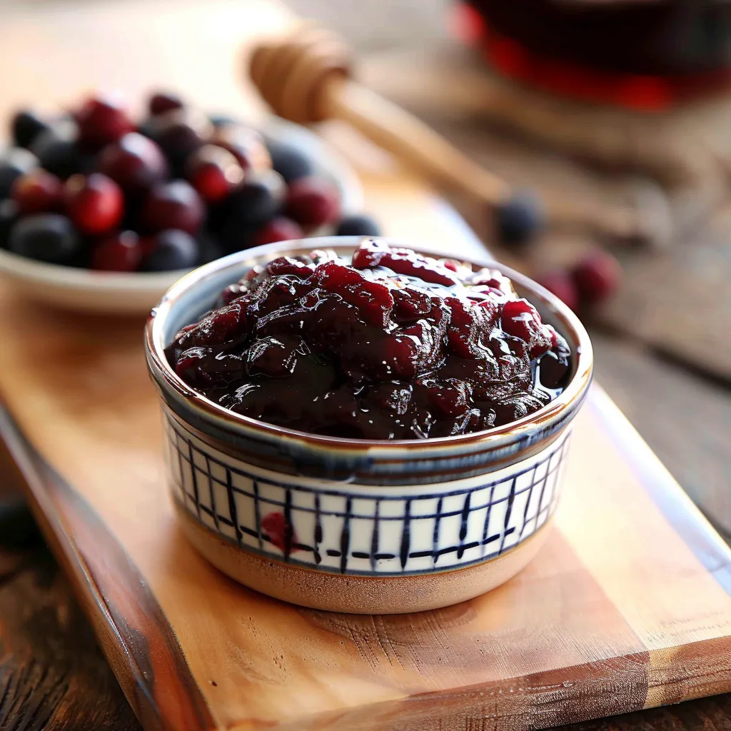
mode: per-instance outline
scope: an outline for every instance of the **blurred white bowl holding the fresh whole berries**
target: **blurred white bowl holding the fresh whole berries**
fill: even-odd
[[[363,188],[355,171],[317,135],[279,117],[270,117],[262,132],[310,156],[315,174],[338,188],[344,213],[363,210]],[[331,232],[323,227],[312,235]],[[0,249],[0,280],[17,292],[54,307],[95,314],[146,314],[188,271],[96,272],[37,262]]]

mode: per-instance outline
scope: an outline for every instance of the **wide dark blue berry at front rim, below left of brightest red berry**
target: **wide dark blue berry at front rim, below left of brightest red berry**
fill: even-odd
[[[83,242],[66,216],[39,213],[20,219],[12,227],[7,248],[29,259],[72,265],[83,249]]]

